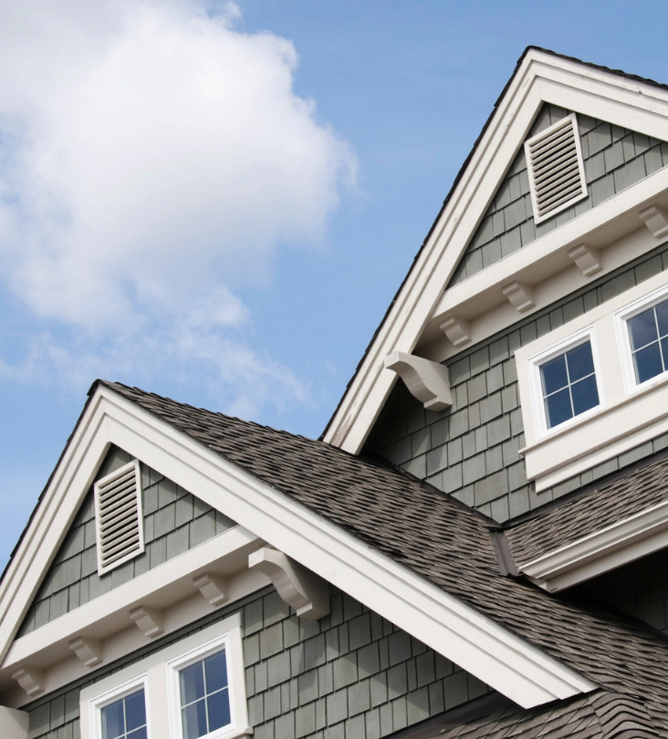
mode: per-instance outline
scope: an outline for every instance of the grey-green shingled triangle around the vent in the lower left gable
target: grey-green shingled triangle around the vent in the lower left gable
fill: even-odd
[[[129,453],[112,447],[95,481],[131,460]],[[230,518],[142,463],[141,497],[145,551],[99,576],[95,503],[93,485],[90,485],[17,637],[39,629],[235,526]]]

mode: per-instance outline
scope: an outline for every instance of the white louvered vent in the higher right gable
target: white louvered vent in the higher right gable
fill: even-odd
[[[524,145],[534,223],[587,197],[575,113],[541,130]]]

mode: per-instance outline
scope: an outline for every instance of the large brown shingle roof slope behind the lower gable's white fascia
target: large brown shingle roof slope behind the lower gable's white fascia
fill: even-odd
[[[550,595],[501,575],[494,522],[484,515],[409,474],[324,442],[102,384],[602,689],[641,699],[668,735],[668,675],[657,670],[668,661],[668,640],[581,595]]]

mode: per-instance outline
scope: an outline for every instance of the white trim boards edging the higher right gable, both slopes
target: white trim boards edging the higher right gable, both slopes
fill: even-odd
[[[393,351],[411,353],[415,348],[441,300],[444,286],[464,255],[470,235],[482,220],[544,102],[656,139],[668,139],[665,88],[528,49],[350,381],[323,434],[324,441],[351,453],[360,452],[395,381],[391,372],[382,371],[383,359]],[[665,187],[661,178],[652,182]],[[647,188],[645,200],[658,194],[659,190]],[[553,238],[563,233],[562,228],[552,232]]]

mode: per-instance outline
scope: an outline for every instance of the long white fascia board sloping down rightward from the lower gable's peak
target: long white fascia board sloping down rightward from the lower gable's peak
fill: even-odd
[[[529,707],[594,688],[492,619],[112,390],[97,392],[111,442],[516,703]]]

